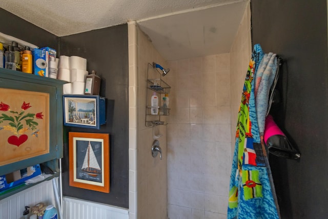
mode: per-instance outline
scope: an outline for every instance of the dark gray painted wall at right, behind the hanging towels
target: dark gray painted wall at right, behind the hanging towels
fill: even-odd
[[[272,114],[300,150],[298,161],[270,155],[282,218],[328,218],[326,0],[252,0],[252,41],[284,59],[282,103]]]

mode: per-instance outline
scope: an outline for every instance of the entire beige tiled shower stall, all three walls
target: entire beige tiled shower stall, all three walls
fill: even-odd
[[[241,91],[251,55],[250,5],[231,50],[165,61],[129,23],[130,218],[226,218]],[[171,113],[160,126],[163,160],[145,126],[148,63],[171,71]],[[156,132],[157,130],[155,130]],[[168,209],[168,212],[166,211]]]

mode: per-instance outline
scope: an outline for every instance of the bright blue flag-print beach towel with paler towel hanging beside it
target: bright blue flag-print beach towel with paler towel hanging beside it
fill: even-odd
[[[238,112],[227,218],[279,218],[262,140],[264,121],[258,121],[258,116],[262,120],[263,113],[267,113],[266,96],[276,73],[274,63],[275,54],[264,54],[259,44],[254,46]]]

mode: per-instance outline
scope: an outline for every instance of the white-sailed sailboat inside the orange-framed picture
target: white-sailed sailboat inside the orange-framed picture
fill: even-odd
[[[101,169],[99,167],[97,158],[91,147],[90,141],[89,141],[87,153],[84,158],[83,165],[82,165],[82,171],[84,171],[85,173],[88,173],[90,176],[94,176],[94,177],[97,176],[99,173],[101,173]]]

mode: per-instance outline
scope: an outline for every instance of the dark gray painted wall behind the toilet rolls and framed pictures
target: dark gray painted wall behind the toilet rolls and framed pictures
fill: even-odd
[[[49,46],[59,55],[87,58],[87,70],[102,78],[100,96],[106,97],[106,125],[100,130],[64,127],[63,193],[114,206],[129,207],[128,130],[128,26],[119,25],[70,36],[57,37],[0,9],[0,32],[39,47]],[[60,47],[59,47],[60,44]],[[110,193],[69,186],[68,132],[110,134]]]

